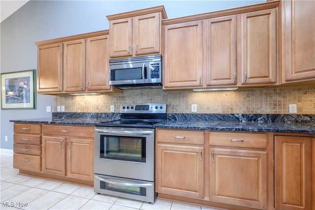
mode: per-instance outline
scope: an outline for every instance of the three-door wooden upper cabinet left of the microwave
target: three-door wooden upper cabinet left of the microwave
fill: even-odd
[[[36,42],[37,92],[121,92],[109,85],[108,40],[106,30]]]

